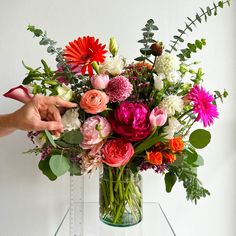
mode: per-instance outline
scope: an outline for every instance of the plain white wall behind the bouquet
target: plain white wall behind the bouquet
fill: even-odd
[[[25,75],[22,59],[31,66],[38,66],[41,58],[54,65],[53,57],[26,31],[28,24],[47,29],[61,46],[83,35],[94,35],[104,43],[115,36],[120,52],[131,60],[139,55],[136,42],[147,19],[156,21],[158,39],[167,45],[187,16],[194,16],[199,6],[211,2],[0,0],[0,94],[21,83]],[[185,200],[181,185],[166,194],[161,176],[144,174],[145,201],[161,202],[178,236],[236,235],[235,5],[198,25],[188,38],[189,42],[207,39],[207,47],[196,57],[202,61],[205,86],[212,91],[226,88],[230,94],[220,105],[220,119],[211,128],[212,142],[202,151],[206,165],[199,176],[211,197],[194,206]],[[0,99],[0,113],[19,106],[13,100]],[[69,177],[49,182],[37,169],[38,158],[22,154],[30,147],[24,132],[0,139],[0,236],[50,236],[68,207]],[[97,175],[86,179],[85,197],[97,200]]]

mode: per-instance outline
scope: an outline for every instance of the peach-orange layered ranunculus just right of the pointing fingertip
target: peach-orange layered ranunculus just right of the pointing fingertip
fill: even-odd
[[[97,114],[107,108],[109,97],[102,91],[92,89],[87,91],[80,100],[80,107],[85,112],[90,114]]]

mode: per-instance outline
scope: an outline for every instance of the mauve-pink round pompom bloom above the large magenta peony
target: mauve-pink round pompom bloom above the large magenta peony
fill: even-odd
[[[106,94],[110,102],[126,100],[133,91],[133,85],[124,76],[116,76],[111,79],[106,88]]]

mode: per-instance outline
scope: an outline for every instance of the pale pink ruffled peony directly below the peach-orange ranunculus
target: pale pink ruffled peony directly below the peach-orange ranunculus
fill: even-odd
[[[85,150],[93,149],[93,152],[97,152],[103,145],[103,139],[111,133],[111,125],[102,116],[91,116],[81,126],[80,131],[83,135],[80,146]]]

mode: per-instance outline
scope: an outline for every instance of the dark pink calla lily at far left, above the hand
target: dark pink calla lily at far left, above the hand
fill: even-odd
[[[33,95],[30,94],[28,89],[23,85],[10,89],[7,93],[3,94],[3,96],[15,99],[23,103],[29,102],[33,97]]]

